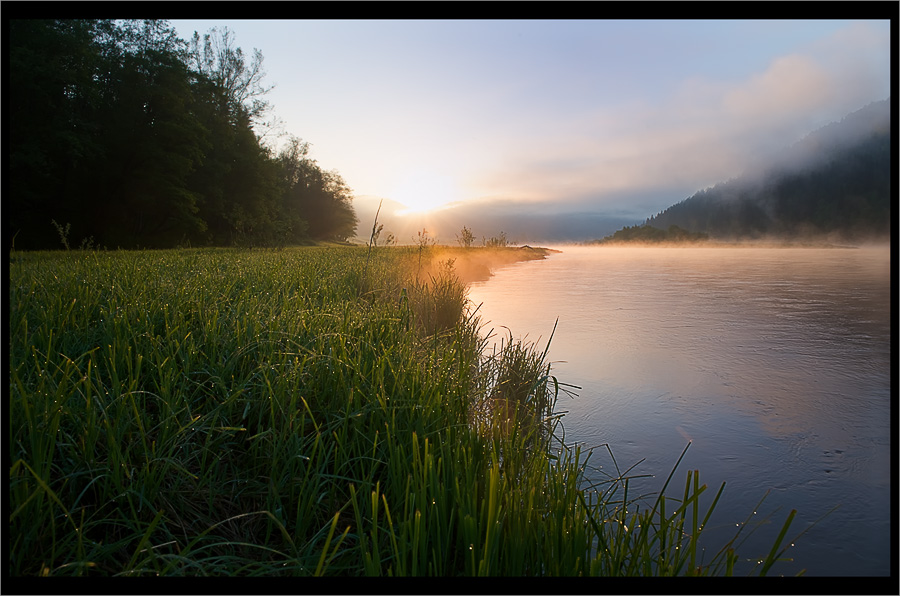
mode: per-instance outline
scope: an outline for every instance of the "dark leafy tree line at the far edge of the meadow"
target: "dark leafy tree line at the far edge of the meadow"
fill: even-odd
[[[264,136],[259,50],[166,21],[11,20],[6,233],[19,249],[346,240],[352,191]]]

